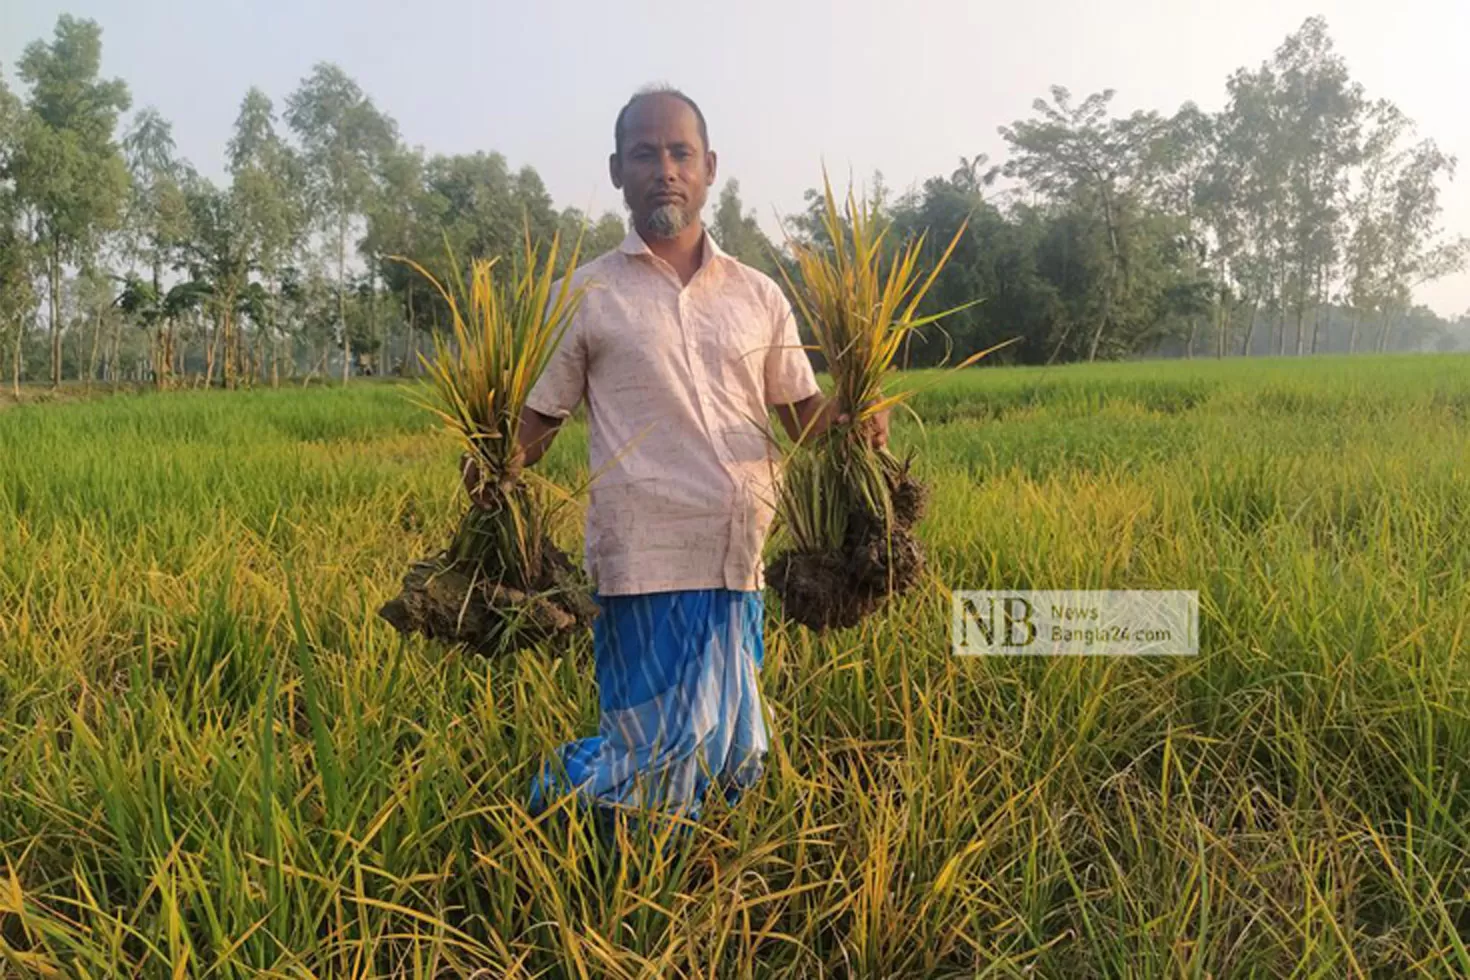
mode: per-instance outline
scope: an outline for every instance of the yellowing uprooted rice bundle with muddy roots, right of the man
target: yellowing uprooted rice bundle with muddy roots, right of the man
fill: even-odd
[[[920,278],[923,238],[897,248],[885,263],[886,229],[876,209],[850,192],[844,212],[831,182],[823,178],[823,184],[828,241],[791,242],[798,278],[782,272],[832,375],[835,411],[848,422],[803,433],[786,454],[775,535],[784,550],[766,573],[785,619],[814,630],[858,623],[923,574],[914,525],[928,491],[913,475],[911,454],[900,460],[873,447],[869,433],[879,413],[913,394],[883,394],[883,376],[904,341],[954,311],[919,316],[919,306],[964,232],[961,226]]]

